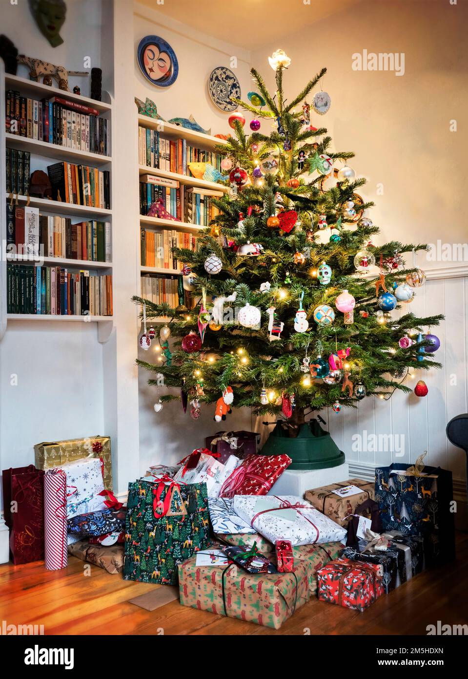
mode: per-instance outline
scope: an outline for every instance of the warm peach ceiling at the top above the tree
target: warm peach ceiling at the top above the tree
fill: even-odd
[[[253,50],[347,10],[361,0],[138,0],[196,31]],[[307,39],[307,35],[305,35]]]

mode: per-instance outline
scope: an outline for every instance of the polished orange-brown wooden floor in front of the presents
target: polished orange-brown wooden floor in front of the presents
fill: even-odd
[[[157,587],[123,581],[69,557],[64,570],[43,563],[0,566],[0,624],[44,625],[45,634],[427,634],[429,624],[468,621],[468,534],[456,537],[457,558],[425,571],[364,613],[315,598],[282,625],[269,629],[171,602],[148,612],[128,600]],[[86,564],[88,565],[88,564]]]

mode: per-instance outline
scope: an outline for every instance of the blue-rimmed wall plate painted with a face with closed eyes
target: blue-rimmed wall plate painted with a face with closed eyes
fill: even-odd
[[[140,40],[137,50],[138,66],[147,80],[157,87],[169,87],[179,73],[176,54],[170,44],[158,35],[147,35]]]

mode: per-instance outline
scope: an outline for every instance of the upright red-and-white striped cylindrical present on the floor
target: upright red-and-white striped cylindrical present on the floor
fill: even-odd
[[[48,469],[44,476],[45,568],[58,570],[68,564],[66,547],[66,474]]]

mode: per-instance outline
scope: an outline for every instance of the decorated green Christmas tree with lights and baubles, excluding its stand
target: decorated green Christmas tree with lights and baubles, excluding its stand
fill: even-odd
[[[372,243],[379,230],[358,193],[366,180],[347,165],[354,154],[332,150],[326,128],[311,124],[311,112],[330,106],[322,91],[307,103],[326,69],[288,101],[290,59],[278,50],[269,62],[275,94],[252,69],[257,91],[236,100],[253,116],[252,133],[241,111],[229,117],[233,135],[220,150],[231,188],[214,201],[219,214],[196,252],[175,251],[195,307],[183,295],[177,308],[145,301],[148,318],[170,318],[159,342],[170,332],[172,360],[138,363],[180,388],[162,400],[188,397],[194,418],[201,403],[218,401],[216,420],[225,419],[232,400],[300,425],[327,406],[412,391],[410,369],[440,367],[437,337],[423,333],[443,317],[418,318],[407,306],[425,281],[416,253],[426,245]],[[391,316],[402,305],[408,312]],[[159,386],[158,375],[149,384]],[[415,392],[427,393],[424,382]]]

